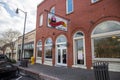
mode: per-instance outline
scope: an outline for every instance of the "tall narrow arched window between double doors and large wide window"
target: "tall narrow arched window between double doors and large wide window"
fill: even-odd
[[[84,34],[80,31],[73,36],[74,65],[85,64]]]

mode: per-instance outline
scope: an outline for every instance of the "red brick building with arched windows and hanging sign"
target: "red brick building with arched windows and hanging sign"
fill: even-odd
[[[44,0],[37,6],[36,63],[120,70],[120,0]],[[113,66],[114,65],[114,66]]]

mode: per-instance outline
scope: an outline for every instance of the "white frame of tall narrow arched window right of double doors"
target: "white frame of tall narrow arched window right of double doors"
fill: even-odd
[[[77,31],[76,33],[78,33],[78,32],[81,32],[81,31]],[[75,33],[75,34],[76,34]],[[83,32],[81,32],[81,33],[83,33]],[[83,36],[81,36],[81,37],[74,37],[75,36],[75,34],[73,35],[73,67],[80,67],[80,68],[87,68],[86,67],[86,51],[85,51],[85,37],[84,37],[84,34],[83,34]],[[76,64],[76,50],[75,50],[75,40],[83,40],[83,48],[84,48],[84,65],[80,65],[80,64]]]

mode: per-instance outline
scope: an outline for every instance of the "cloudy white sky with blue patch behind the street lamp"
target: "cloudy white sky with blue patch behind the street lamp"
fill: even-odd
[[[0,32],[7,29],[19,30],[23,33],[25,14],[17,8],[27,12],[26,32],[36,27],[36,9],[37,5],[43,0],[0,0]]]

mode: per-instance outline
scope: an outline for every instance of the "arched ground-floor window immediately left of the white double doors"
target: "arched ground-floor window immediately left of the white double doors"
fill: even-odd
[[[45,58],[52,59],[52,39],[48,38],[45,42]]]

